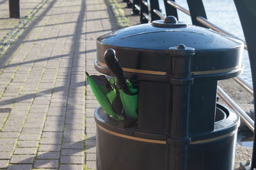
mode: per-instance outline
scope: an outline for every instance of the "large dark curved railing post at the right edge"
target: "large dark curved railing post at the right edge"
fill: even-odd
[[[248,54],[250,59],[251,71],[252,71],[252,82],[254,92],[254,114],[256,114],[256,1],[255,0],[234,0],[236,4],[237,13],[240,18],[241,25],[243,27],[244,38],[248,48]],[[255,122],[255,120],[254,120]],[[253,141],[253,155],[252,155],[252,167],[256,168],[256,124],[254,124],[254,141]]]

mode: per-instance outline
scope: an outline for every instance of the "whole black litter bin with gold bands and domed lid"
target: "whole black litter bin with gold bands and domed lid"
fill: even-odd
[[[97,39],[95,69],[113,75],[109,48],[138,81],[138,123],[95,110],[98,170],[234,168],[239,116],[216,104],[216,88],[243,71],[241,41],[167,17]]]

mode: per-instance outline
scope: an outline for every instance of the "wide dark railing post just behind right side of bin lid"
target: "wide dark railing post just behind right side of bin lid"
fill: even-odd
[[[197,16],[201,16],[207,19],[202,0],[187,0],[187,2],[191,15],[192,24],[207,28],[205,25],[201,24],[196,20]]]

